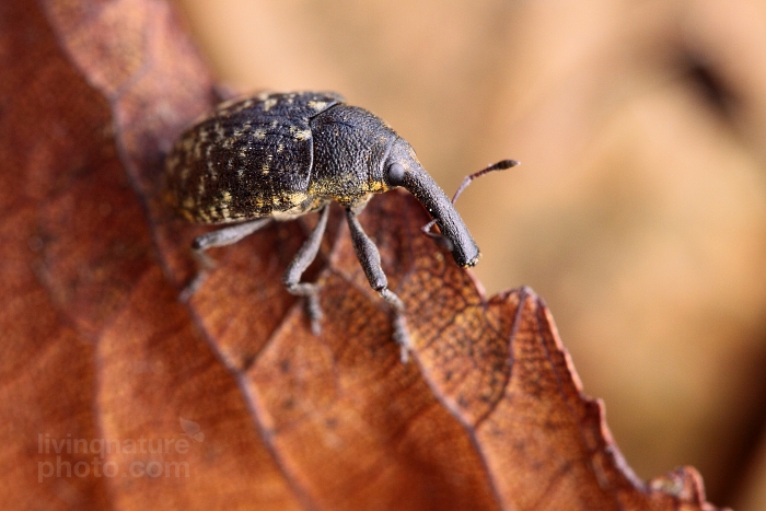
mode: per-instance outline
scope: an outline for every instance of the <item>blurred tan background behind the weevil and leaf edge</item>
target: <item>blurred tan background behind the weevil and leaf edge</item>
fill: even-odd
[[[223,82],[391,123],[642,478],[766,509],[766,0],[178,0]],[[363,217],[362,217],[363,221]]]

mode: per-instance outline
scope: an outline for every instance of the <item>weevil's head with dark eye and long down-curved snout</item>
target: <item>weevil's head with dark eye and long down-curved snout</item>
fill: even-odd
[[[383,163],[383,179],[390,188],[404,187],[426,207],[436,219],[455,263],[467,267],[478,262],[478,246],[463,219],[444,191],[420,165],[409,143],[402,138],[394,141],[388,158]]]

